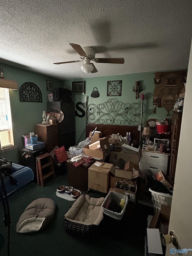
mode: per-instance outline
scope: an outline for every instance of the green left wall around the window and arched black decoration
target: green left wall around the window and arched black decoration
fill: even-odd
[[[62,87],[62,81],[2,63],[0,63],[0,67],[3,69],[5,79],[18,83],[18,90],[9,89],[9,95],[14,143],[18,145],[18,149],[22,149],[22,135],[34,131],[35,124],[42,122],[43,110],[47,110],[47,94],[50,91],[46,90],[46,80],[52,80],[55,87]],[[35,83],[39,87],[43,102],[21,102],[19,100],[19,88],[26,82]],[[1,151],[0,157],[2,157]],[[4,158],[19,163],[18,150],[4,152]]]

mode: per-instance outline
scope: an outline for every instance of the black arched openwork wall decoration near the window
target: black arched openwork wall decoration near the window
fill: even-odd
[[[42,102],[42,93],[35,83],[23,83],[19,89],[20,101]]]

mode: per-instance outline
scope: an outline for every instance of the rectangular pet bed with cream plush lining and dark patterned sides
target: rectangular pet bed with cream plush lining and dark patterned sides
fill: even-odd
[[[80,195],[64,215],[65,231],[81,235],[95,233],[103,219],[101,205],[104,200],[104,197],[94,198],[88,194]]]

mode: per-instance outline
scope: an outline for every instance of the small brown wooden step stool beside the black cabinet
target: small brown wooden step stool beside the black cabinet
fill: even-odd
[[[47,163],[44,165],[41,165],[41,160],[47,158]],[[50,171],[48,173],[43,174],[42,170],[46,167],[49,166]],[[52,156],[50,153],[46,152],[42,155],[38,155],[36,156],[36,169],[37,169],[37,183],[38,185],[40,185],[41,182],[41,186],[44,186],[44,179],[46,179],[47,177],[53,175],[55,178],[55,170],[54,170],[54,166],[53,166],[53,161],[52,161]],[[39,181],[40,179],[40,181]]]

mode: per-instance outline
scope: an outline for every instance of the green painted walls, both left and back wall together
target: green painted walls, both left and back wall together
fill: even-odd
[[[42,103],[21,102],[19,100],[19,89],[17,91],[9,90],[14,143],[18,145],[18,149],[22,149],[22,134],[28,134],[34,131],[35,124],[42,122],[43,110],[47,110],[47,94],[50,92],[46,90],[46,79],[52,80],[54,87],[66,87],[71,90],[72,82],[82,81],[82,79],[61,81],[2,63],[0,63],[0,67],[3,69],[5,79],[17,81],[18,88],[25,82],[33,82],[40,88],[42,93]],[[113,80],[122,80],[122,96],[115,97],[118,101],[128,104],[134,102],[141,103],[140,98],[135,99],[135,93],[133,92],[133,86],[135,86],[136,81],[140,81],[142,88],[140,94],[145,94],[145,100],[143,101],[143,126],[146,125],[148,119],[171,119],[172,113],[170,112],[171,115],[167,116],[167,111],[164,107],[157,108],[156,114],[151,112],[151,114],[148,115],[148,111],[153,110],[154,72],[84,78],[84,80],[86,81],[86,92],[84,95],[72,95],[75,104],[79,101],[85,102],[85,96],[88,96],[88,104],[99,104],[108,101],[110,98],[114,98],[112,96],[107,97],[107,81]],[[90,96],[95,86],[100,92],[99,98],[91,98]],[[79,114],[81,113],[79,112]],[[85,139],[84,130],[85,117],[80,118],[76,116],[76,144]],[[2,157],[2,153],[0,157]],[[18,150],[15,149],[5,152],[4,158],[9,158],[11,161],[19,163]]]

